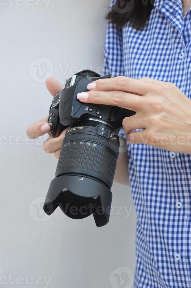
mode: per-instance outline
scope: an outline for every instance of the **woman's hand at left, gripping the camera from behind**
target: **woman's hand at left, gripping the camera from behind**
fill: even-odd
[[[58,92],[62,91],[62,84],[59,83],[56,79],[48,78],[46,81],[46,86],[48,91],[55,96]],[[43,148],[47,153],[54,153],[56,158],[59,158],[60,151],[62,149],[62,142],[64,140],[66,130],[62,131],[62,133],[57,138],[53,138],[50,134],[50,125],[47,122],[48,116],[43,118],[42,120],[31,124],[26,131],[27,136],[30,139],[35,139],[39,136],[42,136],[46,133],[49,134],[49,138],[43,143]]]

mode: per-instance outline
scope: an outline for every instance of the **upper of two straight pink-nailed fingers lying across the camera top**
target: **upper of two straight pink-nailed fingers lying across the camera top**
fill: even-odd
[[[149,91],[147,83],[125,76],[118,76],[111,79],[100,79],[88,84],[87,88],[90,91],[120,90],[138,95],[144,95]]]

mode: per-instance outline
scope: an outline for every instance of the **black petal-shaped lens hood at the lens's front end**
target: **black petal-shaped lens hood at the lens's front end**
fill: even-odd
[[[112,192],[95,178],[81,175],[61,175],[54,178],[43,209],[51,215],[59,206],[70,218],[83,219],[93,215],[97,227],[109,222]]]

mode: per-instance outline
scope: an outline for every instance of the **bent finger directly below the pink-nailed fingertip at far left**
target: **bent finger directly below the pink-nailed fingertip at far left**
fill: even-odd
[[[66,129],[62,131],[62,133],[57,138],[49,137],[43,143],[43,149],[45,150],[45,152],[54,153],[55,151],[61,149],[65,134],[66,134]]]

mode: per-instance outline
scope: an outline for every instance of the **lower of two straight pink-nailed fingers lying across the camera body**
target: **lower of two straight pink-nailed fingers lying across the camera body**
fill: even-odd
[[[77,98],[84,103],[119,106],[137,111],[142,106],[143,97],[123,91],[91,91],[78,93]]]

